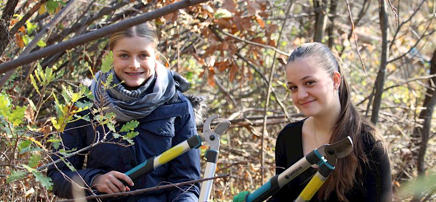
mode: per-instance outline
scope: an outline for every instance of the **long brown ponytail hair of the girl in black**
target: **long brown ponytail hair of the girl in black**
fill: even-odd
[[[297,58],[308,57],[316,60],[319,67],[330,75],[333,75],[335,71],[341,74],[339,86],[341,113],[333,128],[329,143],[338,142],[347,136],[353,140],[353,151],[350,155],[337,160],[336,169],[318,190],[318,199],[326,200],[333,191],[336,191],[339,200],[348,202],[345,193],[350,191],[355,183],[361,183],[356,176],[361,176],[363,170],[361,166],[368,163],[364,151],[364,138],[371,138],[370,141],[377,142],[383,148],[385,148],[384,141],[372,123],[362,117],[351,103],[350,91],[344,74],[336,57],[328,47],[321,43],[303,44],[289,56],[287,63],[293,62]]]

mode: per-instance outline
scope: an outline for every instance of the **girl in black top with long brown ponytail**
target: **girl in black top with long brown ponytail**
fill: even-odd
[[[331,50],[320,43],[298,47],[289,57],[287,86],[294,104],[308,118],[288,124],[278,135],[276,174],[313,149],[346,136],[353,151],[310,201],[392,201],[389,158],[382,136],[350,101],[349,87]],[[317,171],[313,166],[281,188],[269,201],[292,201]]]

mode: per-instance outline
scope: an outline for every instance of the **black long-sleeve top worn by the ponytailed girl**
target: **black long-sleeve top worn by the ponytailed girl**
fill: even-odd
[[[285,169],[297,163],[303,155],[302,146],[302,126],[304,120],[288,124],[278,135],[275,147],[276,174],[282,173]],[[389,158],[383,147],[378,146],[372,138],[362,138],[364,140],[364,151],[369,163],[360,162],[362,174],[357,176],[350,192],[345,197],[349,201],[392,201],[392,186]],[[280,191],[274,194],[268,201],[293,201],[304,187],[309,183],[311,177],[317,169],[310,167],[288,184],[283,186]],[[310,201],[318,201],[317,193]],[[333,191],[326,201],[340,201]]]

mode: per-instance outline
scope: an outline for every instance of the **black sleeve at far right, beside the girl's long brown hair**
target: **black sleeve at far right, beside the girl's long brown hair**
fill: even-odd
[[[392,201],[392,185],[389,157],[381,144],[373,144],[365,164],[364,187],[367,189],[364,201]]]

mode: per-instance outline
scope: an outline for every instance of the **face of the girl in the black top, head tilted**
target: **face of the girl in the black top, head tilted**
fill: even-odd
[[[341,75],[330,75],[311,57],[286,64],[286,79],[292,101],[306,116],[324,115],[339,104]]]

